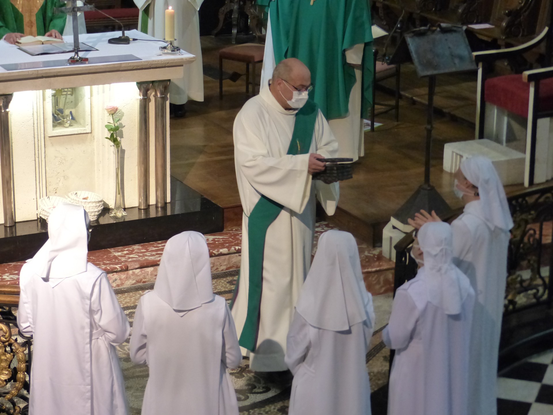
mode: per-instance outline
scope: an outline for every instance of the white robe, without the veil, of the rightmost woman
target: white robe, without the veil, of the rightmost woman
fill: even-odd
[[[481,200],[452,222],[453,255],[476,292],[469,370],[469,413],[497,413],[497,363],[510,234],[482,219]]]

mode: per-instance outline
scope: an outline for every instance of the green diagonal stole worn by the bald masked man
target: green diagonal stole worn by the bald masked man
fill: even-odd
[[[311,100],[296,113],[294,133],[288,147],[291,155],[307,154],[311,147],[315,121],[319,114],[319,106]],[[249,288],[248,313],[246,322],[240,335],[239,343],[250,351],[255,351],[257,333],[259,329],[259,308],[263,287],[263,251],[265,236],[269,225],[280,214],[283,205],[276,203],[265,195],[255,204],[248,218],[248,260],[249,260]],[[238,277],[239,278],[239,277]],[[238,293],[238,281],[234,290],[234,298]]]

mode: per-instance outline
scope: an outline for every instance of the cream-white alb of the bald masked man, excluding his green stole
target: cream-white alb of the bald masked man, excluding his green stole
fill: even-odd
[[[286,155],[295,113],[284,110],[269,88],[264,88],[246,102],[234,121],[234,164],[244,210],[240,278],[232,308],[238,336],[248,307],[248,217],[261,194],[284,206],[265,238],[257,347],[255,353],[242,349],[256,371],[288,369],[284,362],[286,334],[311,262],[315,198],[329,215],[334,214],[338,202],[337,183],[311,180],[307,172],[309,153],[327,158],[337,154],[336,140],[320,111],[310,151]]]

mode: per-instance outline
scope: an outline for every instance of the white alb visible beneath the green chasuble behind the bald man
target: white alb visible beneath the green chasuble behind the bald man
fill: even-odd
[[[364,44],[360,43],[346,50],[346,61],[351,65],[361,65],[363,61]],[[269,80],[273,76],[275,63],[273,51],[273,36],[271,33],[271,19],[267,23],[267,36],[265,37],[265,54],[263,55],[263,68],[261,70],[261,89],[268,88]],[[336,157],[352,158],[356,161],[365,155],[363,142],[363,119],[361,118],[361,85],[363,74],[361,69],[355,67],[356,82],[349,94],[349,113],[346,117],[328,120],[328,125],[336,141],[338,153]]]

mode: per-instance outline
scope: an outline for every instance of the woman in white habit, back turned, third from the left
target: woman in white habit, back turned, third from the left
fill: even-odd
[[[366,354],[374,327],[351,234],[327,231],[301,290],[285,361],[294,381],[289,415],[370,415]]]

